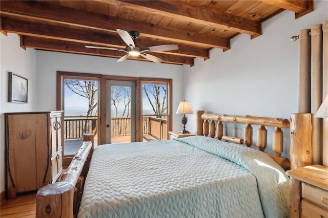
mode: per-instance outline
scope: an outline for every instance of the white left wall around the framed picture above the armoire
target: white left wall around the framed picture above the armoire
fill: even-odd
[[[19,47],[19,36],[0,34],[0,191],[5,189],[5,115],[7,112],[30,112],[35,110],[36,73],[35,50]],[[8,102],[8,72],[28,79],[28,103]]]

